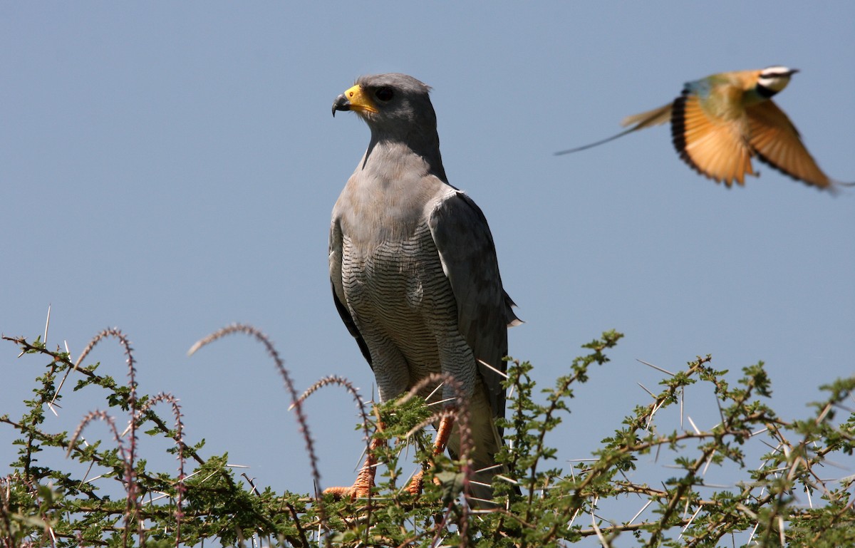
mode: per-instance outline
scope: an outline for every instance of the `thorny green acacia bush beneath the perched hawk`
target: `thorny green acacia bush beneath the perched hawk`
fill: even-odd
[[[587,353],[573,360],[569,374],[545,389],[535,386],[528,362],[511,361],[504,421],[508,443],[498,456],[509,472],[494,481],[495,508],[476,510],[463,496],[471,472],[463,400],[457,405],[460,461],[433,457],[421,427],[438,415],[419,398],[369,408],[347,380],[337,377],[319,380],[298,395],[274,346],[251,326],[224,328],[192,350],[230,333],[256,338],[276,363],[304,434],[315,492],[260,489],[227,466],[226,454],[203,457],[203,444],[186,445],[178,401],[168,393],[137,393],[133,350],[118,330],[99,333],[74,362],[68,352],[51,351],[39,339],[3,337],[22,355],[43,356],[47,363],[34,397],[25,402],[27,412],[17,419],[0,416],[0,424],[18,436],[14,471],[0,478],[0,546],[855,545],[855,475],[835,468],[833,460],[852,457],[855,377],[823,386],[826,397],[813,404],[811,415],[783,420],[769,407],[771,381],[763,363],[744,368],[736,382],[712,368],[710,356],[679,372],[660,369],[659,392],[648,391],[652,401],[628,410],[619,427],[603,434],[591,458],[565,469],[550,446],[551,435],[569,413],[573,390],[587,381],[593,366],[609,361],[605,352],[622,335],[606,332],[583,345]],[[103,339],[117,339],[125,349],[125,383],[99,374],[97,363],[85,364]],[[66,396],[66,383],[74,383],[75,392],[103,392],[109,411],[91,411],[74,433],[48,432],[46,410]],[[715,396],[721,421],[708,430],[691,419],[690,428],[661,427],[666,412],[682,417],[681,398],[690,385]],[[386,440],[374,449],[384,466],[370,498],[335,501],[316,492],[319,474],[302,402],[325,386],[351,393],[367,442]],[[119,426],[121,415],[127,415],[121,420],[127,428]],[[80,434],[92,421],[106,422],[112,439],[84,443]],[[140,436],[169,441],[167,451],[178,462],[174,474],[146,468],[146,456],[138,454]],[[415,445],[418,457],[430,463],[417,498],[403,488],[408,478],[402,466],[412,462],[411,456],[402,457],[406,445]],[[756,466],[746,458],[749,447],[764,448]],[[36,455],[46,451],[66,453],[65,462],[85,473],[39,465]],[[648,485],[636,476],[640,457],[651,455],[667,456],[674,464],[670,477]],[[727,486],[707,480],[711,467],[728,474]],[[99,492],[91,482],[93,468],[100,477],[115,479],[121,496]],[[830,470],[837,474],[829,479]],[[808,504],[799,502],[797,493],[803,492]],[[632,519],[606,514],[610,504],[627,501],[639,510]]]

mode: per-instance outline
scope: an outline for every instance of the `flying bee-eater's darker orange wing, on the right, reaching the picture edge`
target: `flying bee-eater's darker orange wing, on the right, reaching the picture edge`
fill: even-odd
[[[799,130],[784,111],[771,101],[753,104],[746,108],[748,117],[748,143],[758,158],[795,180],[819,188],[840,183],[828,178],[816,160],[805,148]]]

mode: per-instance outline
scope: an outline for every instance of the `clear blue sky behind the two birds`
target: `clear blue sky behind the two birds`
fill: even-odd
[[[451,184],[490,222],[526,321],[511,354],[551,385],[582,343],[627,335],[577,389],[553,439],[562,459],[648,403],[636,382],[660,375],[636,359],[674,370],[711,353],[734,380],[764,360],[773,404],[803,416],[818,385],[855,371],[855,190],[832,197],[758,165],[728,191],[679,160],[666,127],[552,156],[687,80],[772,64],[801,69],[775,101],[829,175],[855,180],[851,2],[2,3],[0,331],[35,339],[50,304],[49,345],[78,356],[120,327],[142,390],[180,398],[189,441],[262,486],[309,492],[262,347],[186,351],[248,322],[299,389],[339,374],[370,397],[327,271],[330,211],[369,132],[330,107],[360,74],[395,71],[433,86]],[[20,414],[44,365],[17,354],[0,345],[0,414]],[[125,374],[114,342],[92,359]],[[103,408],[93,393],[66,391],[49,426]],[[687,412],[717,421],[708,392]],[[307,413],[322,485],[349,484],[351,400],[327,389]],[[0,427],[0,473],[11,439]]]

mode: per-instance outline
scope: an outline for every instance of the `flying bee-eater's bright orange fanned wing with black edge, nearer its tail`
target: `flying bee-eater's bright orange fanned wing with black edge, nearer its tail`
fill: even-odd
[[[753,175],[752,150],[743,138],[740,121],[709,115],[688,88],[674,102],[671,137],[680,157],[699,174],[731,186]]]

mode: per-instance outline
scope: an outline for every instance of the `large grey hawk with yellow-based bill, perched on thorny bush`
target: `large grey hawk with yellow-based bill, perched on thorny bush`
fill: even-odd
[[[471,492],[492,498],[495,424],[504,416],[501,385],[507,327],[520,323],[498,274],[484,214],[448,184],[439,156],[430,88],[405,74],[363,76],[333,103],[353,110],[371,130],[368,150],[333,208],[329,274],[341,319],[374,370],[380,398],[390,400],[433,373],[463,385],[470,412],[475,470]],[[481,362],[486,362],[486,367]],[[428,396],[435,386],[422,393]],[[451,386],[431,399],[451,400]],[[453,421],[439,424],[435,451],[452,456],[460,440]],[[338,496],[364,497],[373,485],[372,457]],[[491,468],[492,467],[492,468]],[[421,486],[419,476],[411,491]]]

